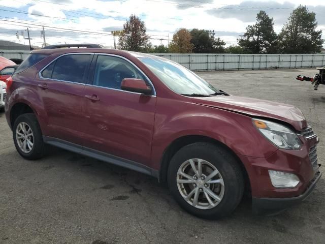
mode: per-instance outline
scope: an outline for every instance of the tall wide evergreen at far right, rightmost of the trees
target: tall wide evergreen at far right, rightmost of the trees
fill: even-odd
[[[316,31],[316,14],[306,6],[296,8],[283,26],[278,37],[281,53],[317,53],[321,51],[324,40],[322,32]]]

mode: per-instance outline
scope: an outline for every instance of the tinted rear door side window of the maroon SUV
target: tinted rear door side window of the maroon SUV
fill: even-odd
[[[42,71],[43,78],[85,83],[84,75],[91,54],[69,54],[56,59]]]

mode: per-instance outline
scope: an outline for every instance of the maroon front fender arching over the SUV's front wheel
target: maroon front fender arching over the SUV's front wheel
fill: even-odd
[[[236,155],[266,158],[278,148],[259,133],[251,117],[175,100],[157,101],[152,141],[152,167],[159,170],[166,148],[178,138],[200,135],[212,138],[231,148]]]

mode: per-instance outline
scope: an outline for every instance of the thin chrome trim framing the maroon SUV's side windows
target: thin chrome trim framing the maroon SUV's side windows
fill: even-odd
[[[97,54],[97,55],[105,55],[105,56],[118,57],[118,58],[122,58],[122,59],[126,60],[126,62],[128,62],[129,64],[131,64],[136,70],[138,70],[149,81],[151,87],[153,88],[153,95],[145,95],[145,96],[148,96],[148,97],[156,97],[156,90],[154,88],[153,83],[151,82],[151,80],[149,79],[149,77],[138,66],[136,66],[133,62],[131,62],[130,60],[128,60],[127,58],[125,58],[123,56],[116,55],[116,54],[110,54],[110,53],[101,53],[101,52],[73,52],[73,53],[64,53],[64,54],[62,54],[62,55],[54,58],[49,64],[47,64],[44,68],[42,68],[39,71],[39,77],[40,77],[40,79],[44,79],[44,80],[56,80],[56,81],[60,81],[60,82],[68,82],[68,83],[82,84],[82,85],[93,86],[93,87],[100,87],[100,88],[110,89],[110,90],[119,90],[120,92],[124,92],[124,93],[133,93],[133,94],[144,95],[142,93],[129,92],[128,90],[115,89],[115,88],[110,88],[110,87],[104,87],[104,86],[87,84],[87,83],[79,83],[79,82],[68,81],[68,80],[57,80],[57,79],[45,78],[45,77],[42,76],[43,70],[45,70],[53,62],[55,62],[56,59],[58,59],[58,58],[60,58],[62,56],[65,56],[65,55],[74,55],[74,54]]]

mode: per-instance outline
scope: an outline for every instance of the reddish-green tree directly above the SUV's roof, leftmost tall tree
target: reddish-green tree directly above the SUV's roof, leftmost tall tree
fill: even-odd
[[[150,47],[146,26],[136,15],[131,15],[123,24],[124,33],[118,40],[118,46],[124,50],[146,51]]]

